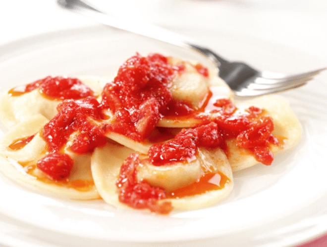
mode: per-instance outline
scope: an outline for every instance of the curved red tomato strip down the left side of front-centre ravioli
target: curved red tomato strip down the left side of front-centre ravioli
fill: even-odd
[[[149,208],[152,212],[169,213],[172,210],[171,203],[158,201],[166,199],[164,190],[136,180],[136,166],[139,163],[139,156],[131,154],[121,165],[116,182],[119,201],[138,209]]]

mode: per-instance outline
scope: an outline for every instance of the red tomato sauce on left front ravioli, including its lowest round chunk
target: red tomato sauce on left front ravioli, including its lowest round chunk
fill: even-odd
[[[72,164],[67,161],[69,156],[60,154],[60,150],[72,134],[74,138],[68,148],[77,154],[92,152],[106,144],[104,125],[95,122],[101,120],[98,106],[96,98],[91,96],[83,100],[65,100],[57,106],[58,114],[41,132],[51,153],[38,161],[38,168],[54,180],[69,176]]]

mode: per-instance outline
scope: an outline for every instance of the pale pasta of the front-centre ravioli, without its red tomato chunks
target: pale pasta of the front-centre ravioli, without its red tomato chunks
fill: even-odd
[[[101,197],[112,206],[126,206],[118,200],[116,182],[121,164],[134,152],[120,144],[107,143],[104,148],[97,148],[93,153],[91,167],[95,184]],[[226,156],[220,150],[202,149],[197,159],[188,164],[153,166],[143,163],[137,165],[136,169],[137,181],[147,181],[152,186],[163,188],[168,196],[160,200],[159,204],[162,203],[161,201],[170,202],[174,209],[191,210],[212,206],[226,198],[233,188],[231,168]],[[200,180],[208,173],[212,174],[211,182]],[[226,177],[226,180],[222,180],[221,177]],[[201,187],[206,184],[216,188],[199,193]],[[193,191],[188,189],[192,188],[191,186]],[[173,192],[176,196],[173,196]]]

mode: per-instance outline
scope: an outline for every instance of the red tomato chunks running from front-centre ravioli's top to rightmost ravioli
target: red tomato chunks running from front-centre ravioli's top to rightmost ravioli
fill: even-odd
[[[273,154],[270,144],[278,143],[272,136],[272,118],[260,117],[263,111],[257,107],[250,107],[244,114],[234,115],[237,108],[229,99],[219,99],[214,105],[217,107],[215,112],[219,113],[214,123],[183,129],[172,140],[153,145],[148,153],[151,162],[165,165],[175,161],[190,161],[195,159],[196,148],[200,146],[220,147],[227,152],[226,140],[236,138],[237,145],[249,149],[257,161],[271,165]]]

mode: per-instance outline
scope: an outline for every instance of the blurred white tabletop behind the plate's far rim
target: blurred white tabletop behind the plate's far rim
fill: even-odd
[[[91,0],[107,12],[163,26],[240,33],[327,58],[326,0]],[[55,0],[3,1],[0,44],[94,22]],[[223,48],[223,47],[222,47]]]

